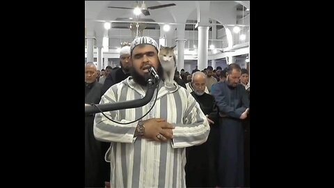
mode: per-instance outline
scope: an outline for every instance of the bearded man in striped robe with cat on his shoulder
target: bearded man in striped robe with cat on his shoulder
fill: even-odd
[[[141,99],[150,77],[148,68],[162,77],[158,49],[152,38],[136,38],[129,58],[131,76],[111,86],[100,104]],[[154,92],[143,107],[104,112],[128,124],[114,123],[102,113],[95,116],[95,138],[113,143],[106,155],[111,161],[111,187],[186,187],[185,148],[207,141],[207,118],[185,88],[166,88],[160,79]],[[131,123],[134,120],[138,121]]]

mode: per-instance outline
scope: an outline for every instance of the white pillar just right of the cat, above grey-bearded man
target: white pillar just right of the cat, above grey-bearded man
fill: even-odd
[[[207,68],[207,46],[209,45],[209,26],[198,26],[198,70]]]

